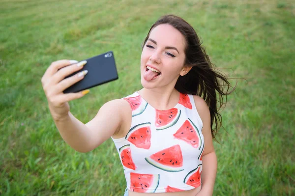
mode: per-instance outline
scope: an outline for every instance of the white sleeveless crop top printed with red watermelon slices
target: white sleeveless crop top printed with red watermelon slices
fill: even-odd
[[[180,93],[170,110],[156,110],[138,92],[124,97],[132,109],[124,138],[112,140],[127,188],[141,193],[179,192],[201,186],[203,122],[193,95]]]

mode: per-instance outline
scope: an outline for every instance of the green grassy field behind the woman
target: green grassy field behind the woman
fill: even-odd
[[[216,196],[295,195],[295,3],[292,0],[1,0],[0,195],[122,196],[107,140],[83,154],[59,136],[40,79],[57,59],[114,51],[119,80],[70,103],[83,122],[141,88],[141,44],[161,15],[187,20],[236,82],[215,142]]]

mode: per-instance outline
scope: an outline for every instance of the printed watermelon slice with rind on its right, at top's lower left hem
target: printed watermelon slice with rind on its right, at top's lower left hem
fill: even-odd
[[[154,193],[159,186],[159,174],[130,173],[130,190],[138,193]]]

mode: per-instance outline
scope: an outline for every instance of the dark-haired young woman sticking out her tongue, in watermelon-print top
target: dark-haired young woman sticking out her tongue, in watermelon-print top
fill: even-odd
[[[87,124],[69,112],[67,102],[89,90],[62,93],[87,74],[64,79],[86,63],[67,66],[73,62],[53,62],[41,80],[63,140],[89,152],[111,137],[124,168],[125,196],[212,195],[217,171],[212,139],[221,124],[217,102],[230,84],[213,69],[186,21],[166,15],[152,25],[142,48],[143,88],[104,104]]]

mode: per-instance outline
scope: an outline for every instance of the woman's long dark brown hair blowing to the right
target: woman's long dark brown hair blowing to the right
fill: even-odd
[[[222,72],[218,72],[215,65],[211,63],[194,28],[180,17],[175,15],[162,16],[149,29],[144,45],[148,40],[150,31],[161,24],[173,26],[185,38],[184,66],[192,68],[186,75],[179,76],[175,88],[181,93],[198,95],[205,100],[210,111],[211,135],[214,139],[218,129],[222,126],[222,117],[219,110],[223,104],[226,104],[227,95],[232,92],[229,92],[231,84],[228,78]]]

